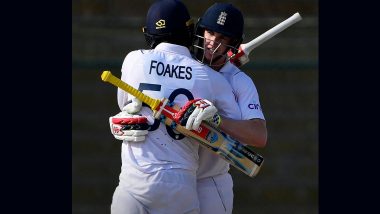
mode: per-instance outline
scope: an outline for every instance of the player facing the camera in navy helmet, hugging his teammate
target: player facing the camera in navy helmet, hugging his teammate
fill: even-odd
[[[194,55],[223,74],[233,88],[241,117],[222,118],[219,128],[241,143],[265,147],[267,129],[259,95],[252,79],[229,62],[229,51],[237,53],[243,41],[244,19],[229,3],[215,3],[198,20]],[[208,150],[199,148],[197,191],[201,213],[232,213],[233,181],[229,164]]]

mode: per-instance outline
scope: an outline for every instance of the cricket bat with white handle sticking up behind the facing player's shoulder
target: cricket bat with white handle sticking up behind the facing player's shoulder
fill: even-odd
[[[302,20],[301,15],[299,13],[295,13],[291,17],[287,18],[286,20],[282,21],[281,23],[277,24],[271,29],[267,30],[265,33],[256,37],[252,41],[241,44],[239,47],[239,51],[235,55],[231,51],[229,51],[227,54],[229,57],[231,57],[230,62],[236,65],[236,67],[243,66],[244,64],[249,62],[249,54],[251,53],[253,49],[255,49],[256,47],[258,47],[259,45],[261,45],[268,39],[272,38],[273,36],[277,35],[281,31],[285,30],[286,28],[290,27],[291,25],[301,20]]]

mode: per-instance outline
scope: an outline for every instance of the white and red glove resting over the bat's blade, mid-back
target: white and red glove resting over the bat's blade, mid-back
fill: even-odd
[[[188,130],[198,130],[202,121],[217,128],[221,123],[221,117],[216,114],[218,109],[206,99],[188,101],[175,115],[177,123],[185,126]]]

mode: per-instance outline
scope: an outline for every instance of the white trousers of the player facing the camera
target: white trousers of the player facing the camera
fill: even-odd
[[[197,181],[201,214],[231,214],[233,208],[233,181],[229,173]]]

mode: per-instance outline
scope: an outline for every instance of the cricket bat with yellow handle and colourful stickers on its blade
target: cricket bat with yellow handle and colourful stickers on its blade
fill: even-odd
[[[254,177],[260,171],[264,158],[249,149],[248,146],[230,138],[205,122],[202,122],[198,130],[188,130],[177,124],[174,118],[178,112],[176,109],[179,107],[166,105],[168,102],[166,98],[162,100],[151,98],[115,77],[110,71],[103,71],[101,78],[104,82],[111,83],[147,104],[153,110],[155,118],[163,115],[164,120],[161,121],[164,124],[187,137],[195,139],[200,145],[210,149],[246,175]]]

